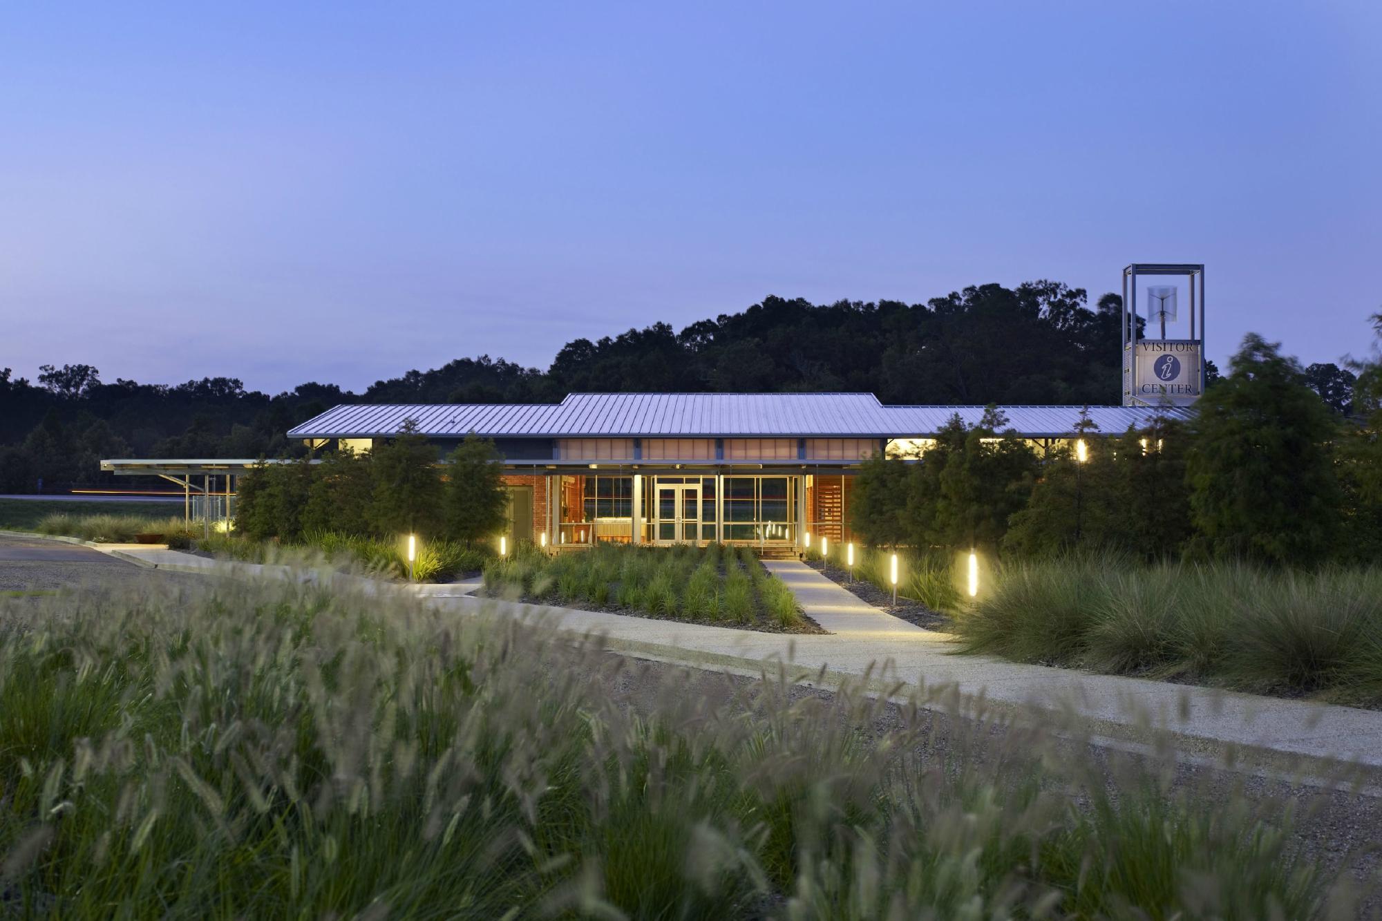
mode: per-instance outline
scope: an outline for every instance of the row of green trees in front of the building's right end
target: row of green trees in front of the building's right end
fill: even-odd
[[[1382,314],[1374,317],[1382,339]],[[1277,566],[1382,559],[1382,360],[1331,407],[1278,343],[1249,335],[1190,423],[1100,433],[1088,413],[1038,456],[990,407],[956,416],[922,463],[862,465],[850,524],[879,546]]]

